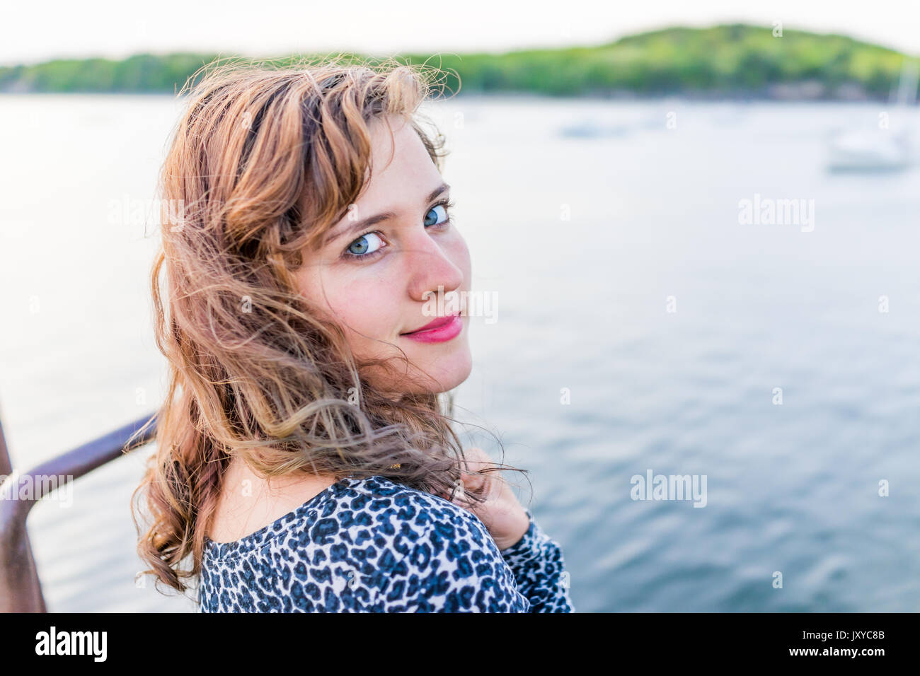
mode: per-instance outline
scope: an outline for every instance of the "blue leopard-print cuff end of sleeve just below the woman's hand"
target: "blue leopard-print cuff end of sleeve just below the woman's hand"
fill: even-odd
[[[543,532],[531,510],[525,511],[530,528],[500,554],[511,567],[518,589],[530,601],[531,613],[574,613],[562,547]]]

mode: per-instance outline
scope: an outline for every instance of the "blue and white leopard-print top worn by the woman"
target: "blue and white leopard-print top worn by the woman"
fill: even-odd
[[[574,613],[534,521],[499,551],[475,514],[384,476],[346,477],[256,533],[205,539],[201,613]]]

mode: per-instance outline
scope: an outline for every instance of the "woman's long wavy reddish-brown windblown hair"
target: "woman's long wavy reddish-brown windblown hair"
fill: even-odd
[[[160,175],[151,287],[169,381],[134,492],[152,522],[143,535],[132,505],[143,574],[180,592],[200,575],[232,458],[264,477],[384,475],[435,495],[454,489],[464,458],[452,393],[375,389],[366,370],[405,375],[405,353],[401,370],[357,361],[293,279],[365,186],[372,121],[410,121],[442,170],[443,135],[417,120],[430,71],[392,60],[211,67],[180,92],[188,108]]]

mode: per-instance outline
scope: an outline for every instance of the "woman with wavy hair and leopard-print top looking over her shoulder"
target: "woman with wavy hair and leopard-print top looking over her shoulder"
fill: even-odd
[[[470,258],[427,73],[231,65],[190,93],[138,551],[201,612],[573,610],[558,544],[451,427]]]

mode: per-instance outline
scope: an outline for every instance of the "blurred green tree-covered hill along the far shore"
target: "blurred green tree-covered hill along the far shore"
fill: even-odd
[[[903,54],[840,35],[730,25],[671,28],[608,44],[505,53],[401,53],[443,69],[451,92],[552,96],[887,98]],[[308,58],[311,55],[308,55]],[[344,54],[346,59],[374,59]],[[136,54],[0,67],[0,91],[173,92],[215,54]],[[290,58],[301,58],[295,55]],[[274,63],[285,63],[280,57]],[[459,82],[458,82],[459,79]]]

